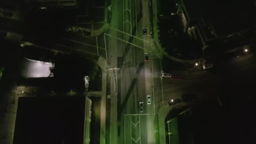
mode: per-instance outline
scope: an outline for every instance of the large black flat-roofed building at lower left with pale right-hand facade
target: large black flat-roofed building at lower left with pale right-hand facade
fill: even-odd
[[[89,144],[91,100],[19,97],[13,144]]]

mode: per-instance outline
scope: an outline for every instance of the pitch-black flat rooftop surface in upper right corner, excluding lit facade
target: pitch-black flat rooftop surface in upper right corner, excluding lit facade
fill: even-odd
[[[203,18],[217,35],[227,35],[256,24],[251,0],[183,0],[190,19]]]

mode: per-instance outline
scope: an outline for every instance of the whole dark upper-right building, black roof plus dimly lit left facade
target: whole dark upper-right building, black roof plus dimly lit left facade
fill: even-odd
[[[243,37],[256,25],[252,0],[177,0],[177,5],[184,32],[200,40],[203,50],[214,40]]]

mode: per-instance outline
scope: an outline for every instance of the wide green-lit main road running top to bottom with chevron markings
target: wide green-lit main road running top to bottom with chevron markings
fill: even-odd
[[[112,22],[105,34],[110,65],[119,69],[113,77],[117,84],[117,106],[113,101],[112,108],[118,109],[117,136],[118,143],[123,144],[155,144],[153,64],[156,56],[152,55],[152,38],[142,34],[143,28],[150,33],[148,3],[147,0],[112,1]],[[149,53],[149,61],[144,60],[145,52]],[[152,104],[147,104],[147,94],[151,95]],[[143,112],[139,111],[140,101],[144,102]],[[115,125],[115,119],[111,121]],[[114,127],[110,133],[115,133]],[[115,136],[110,136],[111,142],[114,139]]]

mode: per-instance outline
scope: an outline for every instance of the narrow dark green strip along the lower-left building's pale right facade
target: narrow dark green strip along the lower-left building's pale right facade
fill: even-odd
[[[92,113],[91,113],[91,142],[90,144],[99,144],[100,139],[100,109],[101,98],[90,97],[92,101]]]

